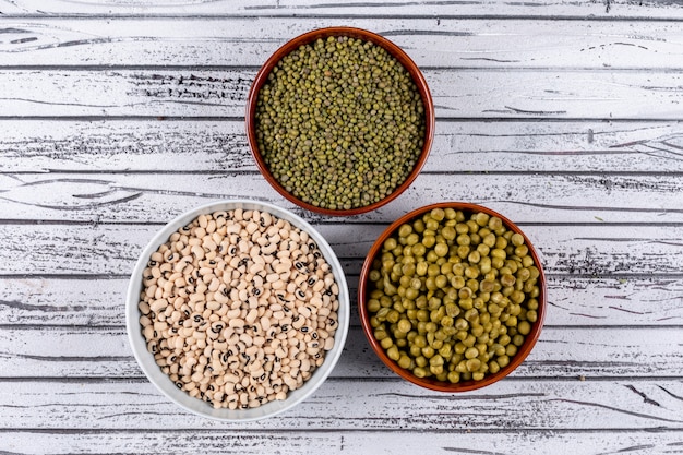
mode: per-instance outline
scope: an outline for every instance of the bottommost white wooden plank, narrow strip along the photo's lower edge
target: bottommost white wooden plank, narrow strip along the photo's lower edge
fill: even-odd
[[[514,447],[516,453],[549,454],[558,446],[572,447],[574,455],[628,453],[630,455],[668,455],[680,451],[683,438],[676,431],[628,429],[627,431],[591,432],[562,430],[508,429],[489,432],[446,430],[400,431],[329,431],[326,429],[287,432],[232,430],[208,431],[31,431],[7,432],[0,451],[8,454],[140,454],[202,453],[206,455],[238,453],[283,455],[367,453],[373,454],[487,454],[494,455]],[[235,452],[232,452],[235,451]],[[503,452],[501,452],[503,451]]]

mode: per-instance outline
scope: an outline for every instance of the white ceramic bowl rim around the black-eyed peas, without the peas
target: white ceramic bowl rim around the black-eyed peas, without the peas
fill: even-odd
[[[305,230],[317,243],[317,247],[324,254],[325,260],[332,267],[335,280],[339,287],[339,309],[337,311],[338,326],[335,333],[334,347],[326,352],[323,364],[313,372],[311,378],[305,381],[300,388],[289,392],[286,399],[269,402],[257,408],[250,409],[214,409],[214,407],[208,403],[191,397],[187,392],[179,390],[170,378],[156,364],[154,355],[147,351],[147,343],[142,334],[140,326],[141,313],[137,304],[140,302],[140,292],[143,288],[143,272],[147,266],[149,256],[159,248],[160,244],[168,240],[172,232],[188,225],[202,214],[209,214],[217,211],[231,211],[236,208],[268,212],[272,215],[288,220],[293,226]],[[130,344],[137,363],[149,381],[173,403],[184,409],[203,417],[223,421],[244,422],[265,419],[295,407],[297,404],[303,402],[311,394],[313,394],[315,390],[322,385],[325,379],[327,379],[333,368],[339,360],[339,356],[342,355],[342,350],[346,342],[346,335],[348,333],[349,318],[349,291],[344,276],[344,271],[342,270],[342,265],[327,241],[310,224],[299,216],[269,203],[249,200],[230,200],[209,203],[178,216],[176,219],[163,227],[140,254],[140,259],[137,260],[135,268],[131,275],[125,299],[125,322]]]

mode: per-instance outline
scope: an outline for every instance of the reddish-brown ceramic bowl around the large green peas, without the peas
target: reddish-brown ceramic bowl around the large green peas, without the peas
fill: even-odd
[[[372,268],[373,260],[376,256],[382,254],[382,246],[384,241],[390,236],[392,236],[400,227],[400,225],[411,221],[418,217],[421,217],[424,213],[430,212],[432,208],[438,208],[438,207],[439,208],[450,207],[456,211],[463,211],[466,213],[466,215],[471,214],[471,213],[483,212],[486,214],[489,214],[490,216],[498,216],[499,218],[502,219],[504,226],[508,230],[512,230],[513,232],[522,234],[522,236],[524,236],[525,243],[529,248],[529,254],[534,258],[535,265],[540,272],[540,275],[538,278],[538,286],[540,289],[540,295],[537,298],[538,303],[539,303],[539,308],[537,310],[538,312],[537,321],[531,325],[531,331],[529,332],[528,335],[526,335],[524,344],[518,347],[517,354],[510,359],[510,363],[505,368],[502,368],[499,372],[494,374],[487,373],[484,379],[481,381],[462,381],[459,383],[452,384],[450,382],[438,381],[436,379],[430,379],[430,378],[420,379],[416,376],[415,374],[412,374],[412,372],[410,372],[409,370],[400,368],[394,360],[387,357],[386,351],[382,348],[380,343],[374,338],[373,328],[370,325],[370,314],[367,309],[367,301],[368,301],[368,295],[371,291],[369,274]],[[479,206],[479,205],[459,203],[459,202],[444,202],[444,203],[428,205],[428,206],[418,208],[414,212],[410,212],[402,216],[400,218],[398,218],[396,221],[394,221],[388,228],[386,228],[386,230],[384,230],[384,232],[382,232],[380,238],[373,243],[372,248],[370,249],[370,252],[368,253],[366,261],[363,263],[363,266],[360,273],[359,283],[358,283],[358,312],[360,314],[360,322],[362,324],[366,337],[370,342],[370,345],[372,346],[372,349],[374,350],[374,352],[392,371],[394,371],[396,374],[398,374],[403,379],[410,381],[411,383],[420,385],[422,387],[430,388],[433,391],[439,391],[439,392],[472,391],[476,388],[480,388],[480,387],[493,384],[494,382],[498,382],[501,379],[508,375],[510,373],[512,373],[513,370],[515,370],[524,361],[524,359],[529,355],[529,352],[534,348],[534,345],[536,345],[536,342],[538,337],[540,336],[541,328],[543,326],[543,319],[546,316],[546,307],[547,307],[546,276],[543,274],[543,268],[541,266],[541,262],[539,260],[538,253],[534,249],[534,246],[531,244],[529,239],[524,235],[524,232],[514,223],[512,223],[510,219],[505,218],[504,216],[500,215],[499,213],[493,212],[492,209],[489,209],[487,207]]]

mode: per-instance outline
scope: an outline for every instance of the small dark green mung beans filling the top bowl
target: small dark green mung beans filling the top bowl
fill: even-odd
[[[371,41],[319,38],[285,56],[259,92],[259,151],[295,197],[326,209],[379,202],[415,168],[424,107],[408,71]]]

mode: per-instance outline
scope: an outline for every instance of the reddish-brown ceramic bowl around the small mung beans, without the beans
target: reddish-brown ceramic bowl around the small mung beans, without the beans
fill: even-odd
[[[400,185],[398,185],[390,195],[387,195],[383,200],[362,206],[362,207],[357,207],[357,208],[351,208],[351,209],[322,208],[322,207],[317,207],[315,205],[309,204],[293,196],[292,194],[290,194],[275,179],[275,177],[268,169],[267,165],[265,164],[261,155],[261,152],[259,151],[259,145],[256,143],[256,132],[255,132],[256,101],[259,99],[259,93],[261,92],[261,88],[265,84],[268,77],[268,74],[271,73],[273,68],[275,68],[275,65],[283,59],[283,57],[298,49],[300,46],[312,43],[319,38],[326,38],[329,36],[349,36],[352,38],[371,41],[386,49],[396,60],[398,60],[404,65],[404,68],[408,71],[408,73],[412,77],[412,81],[417,85],[417,88],[420,93],[420,97],[422,98],[422,105],[424,107],[424,123],[426,123],[424,124],[426,127],[424,128],[426,130],[424,131],[424,145],[422,146],[422,151],[420,153],[418,161],[412,168],[412,171],[408,175],[406,180]],[[403,193],[408,187],[410,187],[412,181],[420,173],[422,166],[427,161],[427,156],[429,155],[433,136],[434,136],[434,105],[432,103],[432,97],[429,92],[429,87],[427,86],[427,81],[424,80],[424,76],[422,76],[422,73],[420,72],[418,67],[415,64],[415,62],[398,46],[396,46],[388,39],[383,38],[380,35],[376,35],[374,33],[371,33],[361,28],[352,28],[352,27],[320,28],[320,29],[315,29],[312,32],[308,32],[303,35],[300,35],[291,39],[290,41],[285,44],[283,47],[277,49],[277,51],[275,51],[275,53],[273,53],[273,56],[271,56],[271,58],[266,60],[264,65],[261,68],[261,70],[256,74],[256,79],[251,85],[248,101],[247,101],[247,137],[249,141],[249,146],[251,148],[252,155],[254,156],[254,159],[256,160],[256,166],[259,167],[259,170],[261,171],[263,177],[265,177],[268,183],[271,183],[271,185],[275,190],[277,190],[277,192],[279,192],[283,196],[285,196],[290,202],[303,208],[307,208],[309,211],[321,213],[324,215],[340,215],[340,216],[357,215],[357,214],[373,211],[393,201],[400,193]]]

